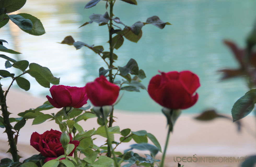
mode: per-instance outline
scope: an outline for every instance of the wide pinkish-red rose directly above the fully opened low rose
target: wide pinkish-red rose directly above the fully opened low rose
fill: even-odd
[[[85,86],[82,88],[64,86],[64,85],[53,85],[50,88],[50,96],[46,96],[48,101],[55,108],[62,107],[74,107],[80,108],[87,103],[88,97],[86,96]]]

